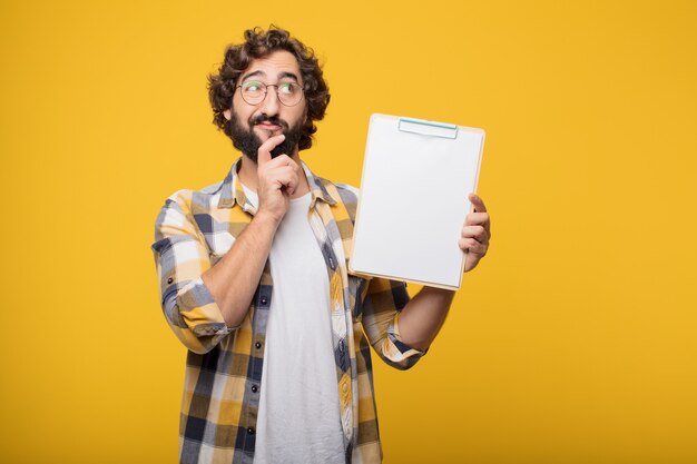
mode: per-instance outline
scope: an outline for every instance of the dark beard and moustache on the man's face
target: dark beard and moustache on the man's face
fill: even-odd
[[[254,134],[254,126],[264,121],[281,126],[283,128],[282,132],[283,135],[285,135],[285,140],[283,140],[273,150],[271,150],[271,157],[276,158],[277,156],[284,154],[287,156],[293,156],[295,147],[297,147],[297,142],[300,141],[302,136],[302,124],[298,122],[291,128],[288,127],[286,121],[282,120],[277,116],[268,117],[264,113],[261,113],[249,119],[248,127],[245,128],[238,121],[237,115],[233,111],[229,121],[233,146],[242,151],[252,161],[254,161],[254,164],[256,164],[258,158],[258,150],[263,142],[258,138],[258,136]]]

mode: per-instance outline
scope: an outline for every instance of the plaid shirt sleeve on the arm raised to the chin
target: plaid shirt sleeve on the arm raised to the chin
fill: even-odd
[[[190,191],[181,190],[165,201],[155,224],[153,251],[167,323],[188,349],[204,354],[236,327],[227,327],[202,279],[212,265],[190,214]]]

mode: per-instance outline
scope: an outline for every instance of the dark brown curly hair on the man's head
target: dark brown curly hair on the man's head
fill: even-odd
[[[237,79],[249,67],[252,60],[266,58],[274,51],[285,50],[295,57],[303,77],[303,95],[307,102],[307,120],[301,128],[298,150],[312,146],[312,136],[317,131],[314,121],[324,118],[330,103],[330,89],[322,76],[322,68],[311,48],[291,37],[284,29],[271,26],[267,31],[261,28],[247,29],[245,42],[230,45],[225,50],[225,60],[217,75],[208,76],[208,98],[213,107],[213,122],[232,138],[230,121],[224,111],[229,110]]]

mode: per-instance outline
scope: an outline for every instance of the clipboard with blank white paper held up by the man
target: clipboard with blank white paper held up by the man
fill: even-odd
[[[371,116],[348,270],[458,289],[484,130]]]

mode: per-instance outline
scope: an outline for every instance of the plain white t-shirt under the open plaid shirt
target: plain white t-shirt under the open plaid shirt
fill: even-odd
[[[255,192],[245,188],[252,204]],[[326,265],[307,219],[311,194],[291,200],[272,244],[274,282],[256,425],[255,464],[343,463]]]

